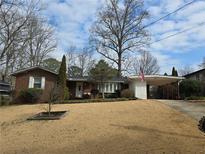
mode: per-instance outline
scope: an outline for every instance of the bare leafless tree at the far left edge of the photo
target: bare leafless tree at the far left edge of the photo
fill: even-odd
[[[8,69],[11,67],[10,61],[12,63],[15,61],[15,52],[22,42],[19,36],[32,9],[30,6],[25,8],[24,4],[23,1],[18,0],[3,0],[0,4],[0,65],[5,76],[7,76]]]

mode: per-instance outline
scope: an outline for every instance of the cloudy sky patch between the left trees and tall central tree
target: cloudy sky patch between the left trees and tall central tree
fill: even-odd
[[[62,56],[71,45],[81,48],[86,44],[91,22],[102,3],[103,0],[44,0],[47,6],[44,15],[56,30],[56,55]]]

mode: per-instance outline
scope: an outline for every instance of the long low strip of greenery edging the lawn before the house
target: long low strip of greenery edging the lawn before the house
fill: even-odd
[[[76,100],[64,100],[55,102],[55,104],[73,104],[73,103],[98,103],[98,102],[118,102],[136,100],[137,98],[105,98],[105,99],[76,99]]]

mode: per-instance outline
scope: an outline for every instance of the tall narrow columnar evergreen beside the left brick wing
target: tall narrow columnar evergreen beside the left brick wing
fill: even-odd
[[[68,97],[68,88],[66,86],[66,57],[63,55],[61,66],[57,78],[57,87],[59,91],[59,99],[64,100]]]

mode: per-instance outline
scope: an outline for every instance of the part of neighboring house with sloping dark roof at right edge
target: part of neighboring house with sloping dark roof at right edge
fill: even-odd
[[[205,68],[198,70],[198,71],[195,71],[195,72],[192,72],[192,73],[189,73],[189,74],[185,75],[184,77],[187,79],[199,80],[199,81],[205,82]]]

